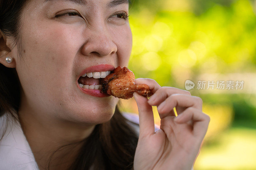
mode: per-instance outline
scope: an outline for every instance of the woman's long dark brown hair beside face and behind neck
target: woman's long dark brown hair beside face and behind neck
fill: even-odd
[[[21,56],[20,51],[22,51],[20,13],[27,1],[0,0],[0,30],[4,35],[13,38],[12,47],[18,46],[19,56]],[[4,115],[7,117],[6,127],[8,120],[16,119],[15,114],[18,114],[20,88],[20,81],[15,68],[7,68],[0,64],[0,117]],[[138,136],[128,124],[129,120],[124,118],[117,106],[110,121],[97,124],[92,134],[81,141],[83,147],[69,169],[86,170],[92,165],[93,169],[99,170],[133,169]],[[1,131],[6,131],[6,127],[0,127]],[[62,147],[66,147],[66,145]],[[50,169],[50,163],[51,160],[49,160],[48,169]]]

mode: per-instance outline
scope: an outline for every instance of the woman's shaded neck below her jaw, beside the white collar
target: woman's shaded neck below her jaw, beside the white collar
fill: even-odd
[[[70,166],[84,143],[79,141],[90,136],[95,127],[56,119],[51,114],[34,111],[25,103],[21,103],[18,115],[21,128],[40,169],[48,168],[50,157],[51,169],[66,169]],[[67,147],[60,148],[64,145]],[[57,149],[59,150],[55,152]]]

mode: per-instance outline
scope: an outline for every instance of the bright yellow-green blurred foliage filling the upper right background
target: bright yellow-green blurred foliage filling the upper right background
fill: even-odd
[[[166,0],[163,8],[168,2],[172,1]],[[256,17],[250,1],[229,7],[215,4],[199,16],[189,9],[151,13],[145,7],[130,13],[130,25],[129,67],[136,77],[181,88],[184,78],[194,79],[199,73],[256,70],[256,39],[251,38],[256,35]]]

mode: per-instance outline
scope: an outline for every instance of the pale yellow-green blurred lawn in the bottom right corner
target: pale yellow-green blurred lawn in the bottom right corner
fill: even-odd
[[[230,129],[223,131],[211,145],[202,147],[195,170],[255,170],[256,130]]]

